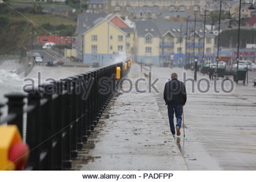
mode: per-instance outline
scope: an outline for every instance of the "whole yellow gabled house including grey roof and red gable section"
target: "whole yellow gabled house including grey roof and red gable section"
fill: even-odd
[[[80,14],[76,31],[77,52],[86,64],[109,64],[119,53],[133,53],[134,28],[118,15]]]

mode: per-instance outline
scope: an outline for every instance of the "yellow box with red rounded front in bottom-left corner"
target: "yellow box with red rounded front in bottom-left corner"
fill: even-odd
[[[0,126],[0,170],[22,170],[28,159],[28,147],[22,143],[16,125]]]

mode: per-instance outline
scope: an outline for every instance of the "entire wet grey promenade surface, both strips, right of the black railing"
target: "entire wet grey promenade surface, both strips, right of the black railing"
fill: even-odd
[[[140,72],[133,64],[128,75],[139,82],[139,89],[148,88],[148,72]],[[101,119],[89,143],[93,147],[80,152],[75,169],[82,170],[255,170],[256,169],[256,88],[222,79],[209,81],[197,74],[195,90],[186,82],[188,100],[184,107],[185,138],[173,138],[163,101],[164,84],[172,72],[179,79],[193,78],[192,71],[181,68],[152,67],[152,81],[159,92],[118,93]],[[200,88],[197,84],[200,83]],[[221,84],[222,88],[221,88]],[[123,84],[127,90],[127,83]],[[215,86],[214,86],[215,85]],[[216,93],[214,90],[218,90]]]

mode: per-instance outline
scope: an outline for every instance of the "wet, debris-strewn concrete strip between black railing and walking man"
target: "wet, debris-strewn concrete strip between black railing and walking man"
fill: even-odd
[[[89,146],[80,153],[81,170],[187,170],[170,132],[169,124],[151,93],[138,93],[135,80],[140,67],[133,64],[127,76],[133,82],[129,93],[119,92],[104,112]],[[144,78],[144,76],[142,76]],[[148,80],[139,82],[147,90]],[[123,82],[123,90],[129,84]]]

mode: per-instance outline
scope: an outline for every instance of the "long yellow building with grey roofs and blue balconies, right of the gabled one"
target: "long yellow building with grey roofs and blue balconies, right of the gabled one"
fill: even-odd
[[[188,24],[191,30],[191,23]],[[208,30],[209,31],[209,30]],[[195,51],[193,33],[186,35],[186,22],[141,20],[136,22],[135,57],[141,63],[183,65],[193,59],[203,60],[204,28],[196,24]],[[195,53],[194,53],[195,52]],[[205,61],[214,61],[214,35],[205,35]]]

